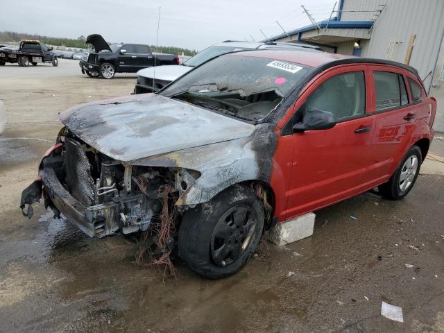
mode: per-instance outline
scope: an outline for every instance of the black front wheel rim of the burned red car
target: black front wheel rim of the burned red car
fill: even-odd
[[[216,223],[211,238],[211,254],[218,266],[236,262],[250,245],[257,220],[250,207],[239,205],[230,208]]]

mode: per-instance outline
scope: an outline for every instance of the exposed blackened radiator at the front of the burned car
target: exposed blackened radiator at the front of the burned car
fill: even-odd
[[[94,203],[94,180],[91,177],[91,167],[75,139],[65,137],[65,167],[67,170],[67,190],[74,198],[90,206]]]

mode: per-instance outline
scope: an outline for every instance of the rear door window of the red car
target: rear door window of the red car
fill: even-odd
[[[374,71],[376,110],[396,108],[409,103],[402,75],[389,71]]]

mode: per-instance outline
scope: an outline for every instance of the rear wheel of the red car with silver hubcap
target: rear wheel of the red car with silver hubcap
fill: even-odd
[[[400,200],[407,196],[418,178],[421,163],[421,149],[412,146],[388,182],[379,185],[379,194],[390,200]]]

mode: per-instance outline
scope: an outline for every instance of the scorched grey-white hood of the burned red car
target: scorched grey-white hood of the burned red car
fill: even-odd
[[[155,94],[87,103],[59,117],[85,143],[123,162],[248,137],[255,130],[250,123]]]

